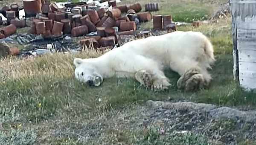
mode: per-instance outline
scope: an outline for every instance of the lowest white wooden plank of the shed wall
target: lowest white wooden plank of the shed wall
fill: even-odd
[[[256,72],[240,71],[239,79],[241,87],[245,89],[256,89]]]

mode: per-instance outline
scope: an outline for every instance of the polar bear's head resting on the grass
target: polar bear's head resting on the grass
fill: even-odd
[[[95,64],[81,58],[75,58],[73,63],[76,66],[75,78],[78,81],[86,83],[89,86],[99,86],[100,84],[102,84],[103,77],[99,73]]]

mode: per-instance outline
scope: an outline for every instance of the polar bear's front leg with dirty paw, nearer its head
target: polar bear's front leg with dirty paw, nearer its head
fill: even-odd
[[[169,79],[161,70],[140,70],[135,73],[135,78],[145,87],[149,87],[155,91],[167,89],[171,85]]]

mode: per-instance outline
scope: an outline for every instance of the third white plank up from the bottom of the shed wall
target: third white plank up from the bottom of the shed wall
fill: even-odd
[[[239,62],[256,62],[256,50],[239,50]]]

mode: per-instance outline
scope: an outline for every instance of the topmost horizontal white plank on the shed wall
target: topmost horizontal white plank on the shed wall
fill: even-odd
[[[242,20],[240,17],[236,17],[237,29],[256,29],[256,16],[244,17]]]

